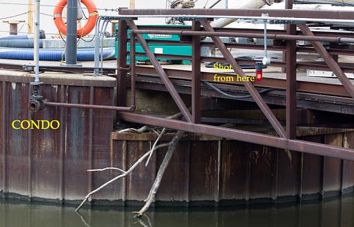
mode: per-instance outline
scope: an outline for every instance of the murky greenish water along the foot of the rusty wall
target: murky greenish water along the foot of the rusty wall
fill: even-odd
[[[136,208],[138,209],[138,208]],[[134,209],[132,209],[134,210]],[[0,200],[0,227],[69,226],[354,226],[354,196],[302,204],[251,208],[157,208],[143,219],[132,210],[84,209]]]

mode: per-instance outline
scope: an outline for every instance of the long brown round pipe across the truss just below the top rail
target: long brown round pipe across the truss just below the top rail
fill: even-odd
[[[133,30],[135,34],[164,34],[164,35],[189,35],[189,36],[209,36],[209,37],[254,37],[283,40],[304,40],[333,43],[354,43],[354,38],[345,37],[324,37],[307,35],[277,35],[277,34],[254,34],[254,33],[226,33],[226,32],[198,32],[189,30]]]

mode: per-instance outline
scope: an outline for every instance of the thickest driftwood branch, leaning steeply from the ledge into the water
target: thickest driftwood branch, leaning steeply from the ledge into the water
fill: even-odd
[[[171,140],[171,143],[169,143],[169,148],[167,149],[165,158],[160,165],[160,169],[158,170],[158,174],[156,175],[155,182],[153,183],[149,195],[145,200],[145,205],[140,211],[135,212],[135,214],[137,214],[137,217],[142,217],[144,215],[144,212],[149,209],[151,203],[155,199],[155,194],[158,192],[162,177],[165,174],[167,166],[169,165],[169,161],[171,161],[171,158],[174,155],[174,151],[176,150],[180,138],[183,137],[183,134],[185,134],[184,131],[177,131],[176,136],[174,136],[174,138]]]

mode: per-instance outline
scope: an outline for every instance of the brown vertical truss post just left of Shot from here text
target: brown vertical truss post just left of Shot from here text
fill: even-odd
[[[193,21],[192,30],[201,30],[201,23]],[[201,37],[192,37],[192,122],[201,122]]]

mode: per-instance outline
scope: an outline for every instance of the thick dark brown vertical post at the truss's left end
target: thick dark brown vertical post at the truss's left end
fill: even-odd
[[[126,73],[128,24],[119,20],[118,24],[118,59],[117,59],[117,106],[126,106]]]

